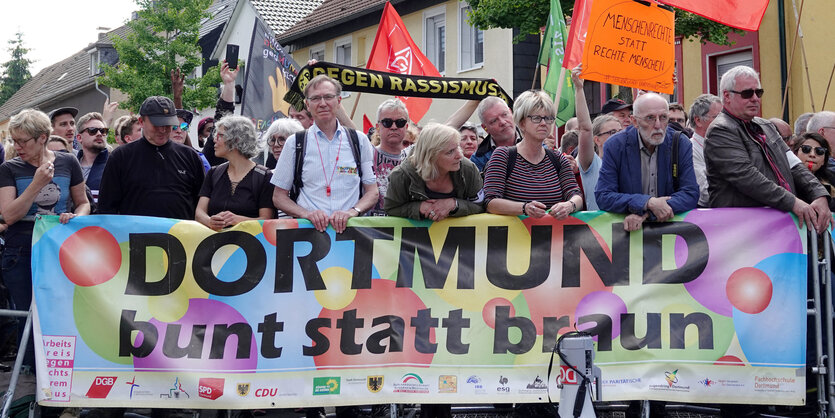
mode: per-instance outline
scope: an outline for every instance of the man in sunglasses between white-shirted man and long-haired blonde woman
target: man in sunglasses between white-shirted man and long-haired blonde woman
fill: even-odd
[[[400,165],[403,140],[409,129],[409,111],[399,99],[388,99],[377,108],[377,133],[380,145],[374,149],[374,175],[377,176],[377,188],[380,197],[370,211],[374,216],[385,216],[383,199],[388,189],[389,174]]]

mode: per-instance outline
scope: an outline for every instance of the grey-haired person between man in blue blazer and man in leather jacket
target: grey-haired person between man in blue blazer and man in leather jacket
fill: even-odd
[[[713,119],[722,111],[722,99],[713,94],[703,94],[690,105],[690,125],[693,135],[690,143],[693,145],[693,171],[699,183],[699,207],[708,206],[707,171],[705,169],[705,135]]]

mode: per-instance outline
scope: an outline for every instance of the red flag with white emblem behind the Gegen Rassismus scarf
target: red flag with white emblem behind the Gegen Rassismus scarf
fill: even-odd
[[[374,38],[374,46],[371,47],[371,56],[368,57],[366,68],[395,74],[441,76],[441,73],[432,65],[429,58],[423,55],[415,41],[409,36],[406,25],[389,2],[386,2],[383,8],[383,18],[380,19],[380,27],[377,29],[377,36]],[[424,97],[398,97],[398,99],[406,104],[409,117],[415,123],[423,118],[432,104],[432,99]]]

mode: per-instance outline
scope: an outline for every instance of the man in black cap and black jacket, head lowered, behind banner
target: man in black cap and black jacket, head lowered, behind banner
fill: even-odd
[[[145,99],[139,123],[142,138],[120,146],[107,160],[99,213],[193,219],[203,165],[194,149],[168,139],[180,123],[174,102]]]

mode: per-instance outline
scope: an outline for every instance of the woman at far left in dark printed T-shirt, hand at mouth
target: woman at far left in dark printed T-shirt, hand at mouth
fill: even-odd
[[[35,215],[59,215],[59,222],[90,213],[81,165],[71,153],[47,149],[52,131],[43,112],[25,109],[9,122],[17,157],[0,166],[0,214],[9,226],[3,250],[3,283],[12,309],[28,310],[32,302],[31,248]],[[75,210],[69,210],[70,207]],[[22,334],[25,321],[20,322]],[[23,364],[34,367],[29,342]]]

